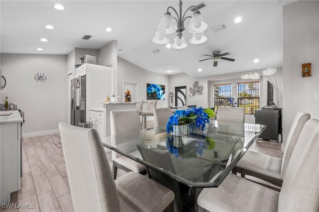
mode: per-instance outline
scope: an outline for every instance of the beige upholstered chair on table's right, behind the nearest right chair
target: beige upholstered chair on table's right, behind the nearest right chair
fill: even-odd
[[[233,173],[239,172],[242,177],[245,175],[257,177],[281,187],[300,133],[309,119],[308,112],[297,112],[287,137],[283,159],[255,151],[247,151],[237,163]]]

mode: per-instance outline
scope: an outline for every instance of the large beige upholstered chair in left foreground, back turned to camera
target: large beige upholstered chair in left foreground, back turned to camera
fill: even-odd
[[[129,172],[113,179],[95,129],[60,122],[59,131],[74,211],[172,211],[173,192],[147,176]]]

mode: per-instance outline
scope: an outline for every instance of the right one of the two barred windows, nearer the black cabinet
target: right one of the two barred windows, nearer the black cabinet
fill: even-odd
[[[259,82],[238,83],[238,106],[245,108],[245,114],[255,114],[259,108]]]

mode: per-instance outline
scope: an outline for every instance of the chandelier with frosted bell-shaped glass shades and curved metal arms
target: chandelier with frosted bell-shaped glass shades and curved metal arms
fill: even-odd
[[[158,26],[155,37],[153,38],[153,42],[157,44],[166,44],[169,42],[169,39],[166,35],[177,32],[177,36],[175,37],[171,47],[174,49],[185,48],[187,46],[187,43],[185,42],[185,38],[183,37],[183,32],[185,31],[184,21],[187,18],[191,18],[190,23],[187,26],[187,31],[192,33],[192,37],[189,42],[191,44],[200,44],[205,42],[207,40],[207,37],[204,34],[204,30],[207,28],[208,24],[204,21],[204,17],[200,14],[200,11],[197,10],[197,6],[189,6],[182,15],[181,0],[179,0],[178,5],[179,13],[177,13],[177,11],[173,7],[167,7],[167,11],[161,18],[160,25]],[[168,11],[169,8],[175,12],[176,17],[171,15],[171,13]],[[185,17],[186,12],[191,8],[195,10],[193,16]]]

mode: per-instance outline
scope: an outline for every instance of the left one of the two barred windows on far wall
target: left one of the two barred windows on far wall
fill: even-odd
[[[214,96],[215,110],[218,106],[230,106],[227,100],[231,97],[231,84],[214,85]]]

